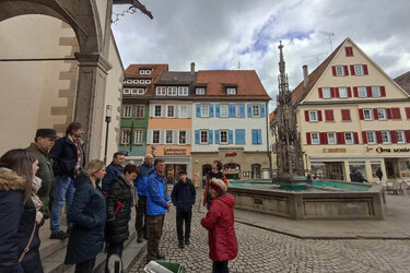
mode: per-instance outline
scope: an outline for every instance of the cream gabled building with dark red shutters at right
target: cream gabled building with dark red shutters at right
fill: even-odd
[[[410,95],[350,38],[292,92],[305,168],[350,181],[410,179]]]

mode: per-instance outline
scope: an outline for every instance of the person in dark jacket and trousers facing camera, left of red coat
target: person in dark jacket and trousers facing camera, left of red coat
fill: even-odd
[[[192,218],[192,205],[195,204],[196,190],[192,181],[187,178],[187,173],[181,170],[179,173],[179,180],[174,186],[171,198],[173,204],[176,206],[176,230],[178,235],[178,247],[184,248],[189,245],[190,223]],[[185,221],[185,241],[184,241],[184,225]]]

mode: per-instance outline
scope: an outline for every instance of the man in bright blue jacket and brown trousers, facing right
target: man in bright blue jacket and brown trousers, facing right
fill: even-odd
[[[148,178],[147,194],[147,227],[148,254],[147,263],[152,260],[164,260],[160,253],[160,240],[164,226],[165,211],[169,209],[171,198],[167,193],[165,178],[165,161],[155,159],[155,171]]]

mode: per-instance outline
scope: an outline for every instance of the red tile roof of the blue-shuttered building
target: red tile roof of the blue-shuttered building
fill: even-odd
[[[271,99],[255,70],[200,70],[196,84],[207,84],[207,94],[195,99],[226,98],[225,86],[235,85],[234,99]]]

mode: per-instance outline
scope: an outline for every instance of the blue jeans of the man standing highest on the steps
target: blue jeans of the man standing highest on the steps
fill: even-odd
[[[70,177],[56,176],[56,193],[52,202],[51,218],[50,218],[50,229],[51,233],[59,233],[60,229],[60,214],[62,206],[66,202],[66,213],[70,209],[72,198],[74,197],[74,185]],[[72,227],[72,223],[67,218],[67,227]]]

